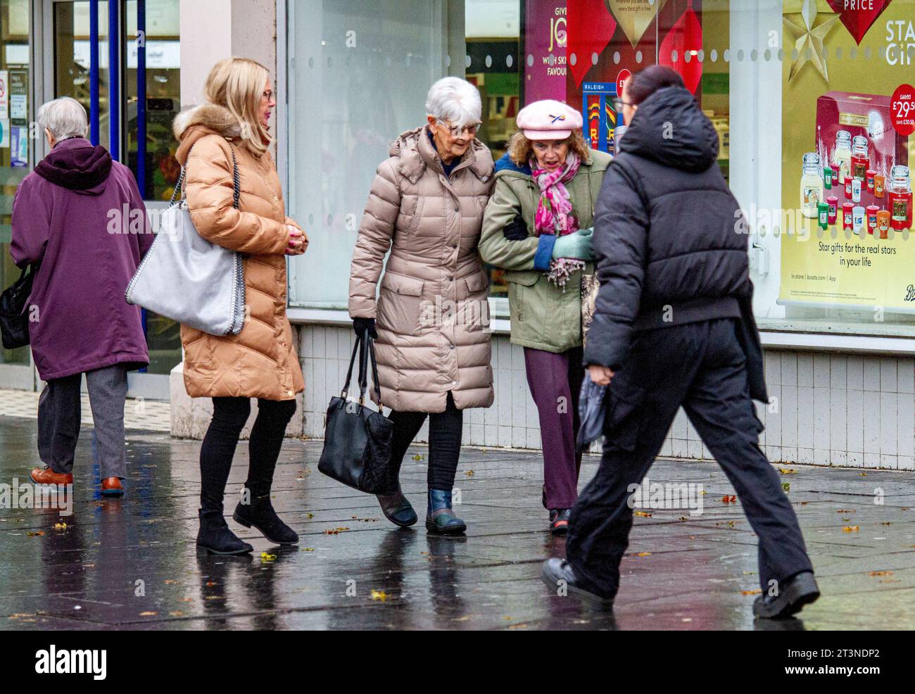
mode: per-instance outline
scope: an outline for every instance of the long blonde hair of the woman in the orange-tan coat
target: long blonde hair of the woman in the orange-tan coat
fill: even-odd
[[[248,58],[226,58],[210,70],[204,86],[207,100],[229,110],[242,125],[242,139],[255,154],[264,154],[273,137],[257,115],[270,72]]]

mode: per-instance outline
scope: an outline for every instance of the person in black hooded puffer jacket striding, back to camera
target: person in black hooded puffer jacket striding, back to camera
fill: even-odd
[[[797,518],[759,449],[752,399],[768,398],[746,224],[716,166],[716,130],[662,66],[633,75],[618,109],[630,127],[597,201],[600,289],[584,355],[591,379],[609,385],[604,453],[572,510],[567,560],[544,562],[544,582],[612,605],[630,497],[683,406],[759,536],[753,612],[796,613],[819,590]]]

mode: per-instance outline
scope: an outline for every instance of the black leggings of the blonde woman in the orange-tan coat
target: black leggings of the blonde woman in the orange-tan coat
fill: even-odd
[[[245,482],[253,498],[270,493],[283,434],[295,413],[295,400],[257,400],[257,417],[248,441],[248,480]],[[213,418],[200,447],[200,507],[204,511],[222,512],[231,461],[249,415],[251,398],[213,398]]]

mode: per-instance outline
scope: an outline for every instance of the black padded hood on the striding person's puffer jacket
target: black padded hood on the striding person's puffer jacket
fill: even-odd
[[[683,87],[665,87],[639,104],[619,151],[684,171],[705,171],[718,157],[715,126]]]

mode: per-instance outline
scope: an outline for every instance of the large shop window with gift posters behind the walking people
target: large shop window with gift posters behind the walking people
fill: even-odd
[[[631,72],[658,63],[680,72],[718,132],[718,165],[745,211],[747,223],[736,221],[735,233],[748,234],[760,327],[801,333],[798,343],[812,345],[815,337],[803,333],[915,334],[915,277],[906,271],[915,0],[468,0],[383,9],[316,2],[309,5],[333,21],[318,22],[321,28],[311,34],[295,5],[291,108],[317,97],[333,116],[320,121],[320,130],[290,118],[290,168],[323,172],[316,188],[290,171],[290,197],[296,213],[303,204],[342,208],[303,220],[312,244],[292,263],[300,268],[290,287],[296,305],[345,308],[350,253],[373,168],[386,154],[384,143],[422,123],[422,94],[431,81],[463,62],[458,75],[479,86],[487,110],[480,138],[497,157],[517,109],[543,98],[580,108],[591,145],[612,151],[618,125],[612,97]],[[397,21],[394,6],[402,6],[408,27],[397,38],[380,32],[385,40],[344,47],[339,37],[348,27]],[[455,16],[465,21],[457,39]],[[473,33],[480,24],[492,28]],[[399,78],[409,51],[420,50],[417,41],[427,42],[426,49],[434,45],[442,60],[404,83]],[[399,58],[399,70],[352,69],[370,55],[382,68]],[[300,56],[313,64],[305,69]],[[312,80],[310,91],[303,91],[303,72]],[[373,147],[365,146],[364,118],[360,131],[350,125],[353,112],[344,104],[356,99],[371,104]],[[318,167],[309,157],[296,162],[303,140],[325,143]],[[347,160],[341,152],[358,154]],[[847,199],[839,179],[846,173],[852,179]],[[346,181],[345,201],[329,188],[333,179]],[[826,205],[822,225],[819,202]],[[852,203],[847,230],[846,202]],[[334,218],[339,227],[328,223]],[[499,297],[498,273],[492,279]],[[498,315],[498,303],[496,309]]]

